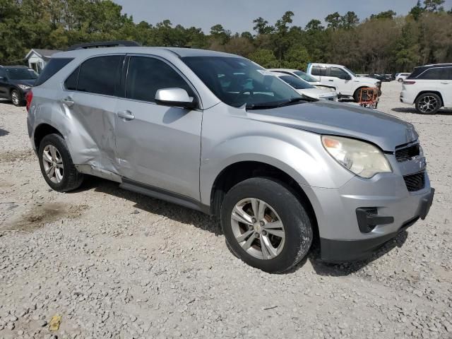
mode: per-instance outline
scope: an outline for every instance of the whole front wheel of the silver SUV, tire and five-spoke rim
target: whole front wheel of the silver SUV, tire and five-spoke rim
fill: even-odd
[[[267,178],[251,178],[227,192],[221,224],[231,251],[250,266],[281,273],[309,251],[311,220],[290,187]]]

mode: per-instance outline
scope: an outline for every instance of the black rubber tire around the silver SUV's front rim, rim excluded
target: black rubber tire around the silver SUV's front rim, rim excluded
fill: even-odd
[[[237,242],[232,230],[232,210],[239,201],[246,198],[265,201],[283,222],[285,242],[278,256],[267,260],[256,258]],[[307,210],[292,189],[283,183],[262,177],[246,179],[227,192],[221,206],[221,225],[232,253],[250,266],[268,273],[282,273],[297,265],[307,255],[314,237]]]

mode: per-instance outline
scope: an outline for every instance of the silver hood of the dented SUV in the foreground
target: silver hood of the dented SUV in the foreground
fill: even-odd
[[[417,140],[412,124],[390,114],[355,105],[320,100],[248,112],[250,119],[319,134],[370,141],[385,151]]]

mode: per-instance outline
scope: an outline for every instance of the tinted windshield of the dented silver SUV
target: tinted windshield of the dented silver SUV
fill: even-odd
[[[182,60],[218,99],[232,107],[263,107],[299,100],[293,88],[270,71],[236,57],[184,57]]]

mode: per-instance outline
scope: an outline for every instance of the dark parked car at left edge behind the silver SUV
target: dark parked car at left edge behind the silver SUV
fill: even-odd
[[[37,73],[26,66],[0,66],[0,97],[15,106],[25,105],[25,95],[35,84]]]

